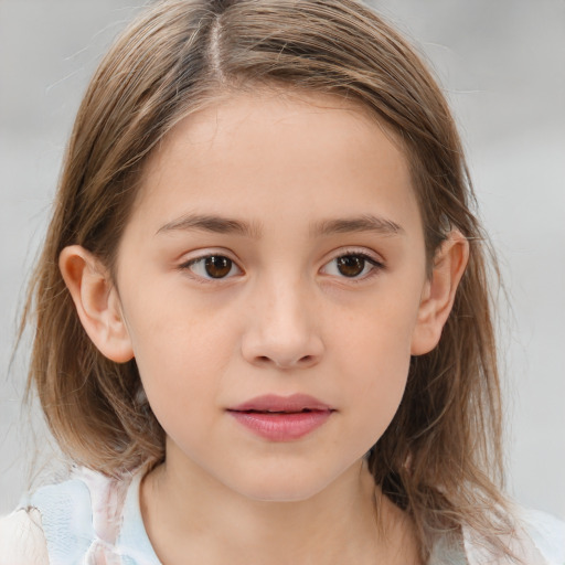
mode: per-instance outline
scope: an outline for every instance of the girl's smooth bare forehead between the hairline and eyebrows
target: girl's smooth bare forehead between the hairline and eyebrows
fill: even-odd
[[[352,185],[364,189],[362,201]],[[267,193],[277,214],[298,207],[333,220],[339,201],[342,217],[373,212],[422,233],[394,135],[358,103],[321,94],[238,94],[188,116],[150,157],[136,207],[148,213],[142,223],[152,234],[184,214],[224,213],[226,204],[230,216],[255,211],[250,220],[264,224],[269,210],[257,204]]]

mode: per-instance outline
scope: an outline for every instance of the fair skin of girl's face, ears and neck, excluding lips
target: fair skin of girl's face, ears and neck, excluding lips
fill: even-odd
[[[166,430],[141,489],[164,565],[418,563],[363,456],[411,355],[437,344],[467,256],[454,232],[426,275],[405,156],[352,103],[233,95],[175,126],[116,280],[79,246],[60,262],[86,331],[109,359],[135,356]],[[233,408],[266,394],[309,395],[328,417],[260,436]]]

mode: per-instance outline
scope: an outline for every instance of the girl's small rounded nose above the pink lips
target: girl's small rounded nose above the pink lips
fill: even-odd
[[[323,341],[312,297],[296,281],[266,285],[254,294],[242,353],[252,364],[307,369],[320,362]]]

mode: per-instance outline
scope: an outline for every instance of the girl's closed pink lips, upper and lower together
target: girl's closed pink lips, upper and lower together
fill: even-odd
[[[227,409],[239,424],[271,441],[292,441],[319,428],[335,412],[305,394],[257,396]]]

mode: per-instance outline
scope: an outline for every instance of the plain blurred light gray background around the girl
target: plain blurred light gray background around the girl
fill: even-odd
[[[565,0],[374,2],[431,61],[500,253],[509,489],[565,518]],[[0,513],[24,489],[22,288],[74,113],[138,0],[0,0]]]

